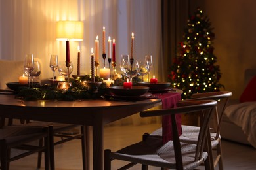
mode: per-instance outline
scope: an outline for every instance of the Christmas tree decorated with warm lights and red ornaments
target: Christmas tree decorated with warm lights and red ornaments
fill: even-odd
[[[219,65],[215,64],[215,34],[212,30],[209,18],[203,16],[200,9],[188,20],[178,54],[168,75],[171,85],[183,90],[182,99],[190,99],[193,93],[214,92],[224,88],[219,83]]]

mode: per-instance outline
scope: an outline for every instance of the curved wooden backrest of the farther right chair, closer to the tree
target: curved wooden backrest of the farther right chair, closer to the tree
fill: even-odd
[[[214,133],[216,133],[215,139],[219,137],[224,110],[226,109],[226,105],[231,96],[232,92],[229,91],[194,93],[192,95],[192,99],[211,99],[218,102],[218,105],[215,107],[215,114],[213,117],[213,129]]]

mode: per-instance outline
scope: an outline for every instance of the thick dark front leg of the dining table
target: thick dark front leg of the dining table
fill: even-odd
[[[103,124],[102,121],[93,125],[93,169],[103,170]]]

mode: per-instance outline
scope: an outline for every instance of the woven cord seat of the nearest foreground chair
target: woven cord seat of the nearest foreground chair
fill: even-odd
[[[202,159],[194,162],[196,144],[181,143],[181,148],[184,169],[198,167],[208,156],[207,152],[203,152]],[[152,136],[147,137],[144,141],[118,150],[117,152],[111,152],[110,157],[134,163],[176,169],[173,141],[162,144],[160,138]]]

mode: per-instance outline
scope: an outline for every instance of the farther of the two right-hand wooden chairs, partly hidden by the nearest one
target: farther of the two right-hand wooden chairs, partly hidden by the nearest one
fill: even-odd
[[[211,122],[211,147],[209,149],[217,152],[217,156],[213,156],[211,150],[211,161],[214,167],[219,165],[219,169],[223,170],[223,158],[222,158],[222,148],[221,148],[221,122],[223,120],[224,110],[226,109],[226,104],[229,98],[232,96],[232,92],[220,91],[220,92],[205,92],[205,93],[195,93],[192,95],[192,100],[202,100],[202,99],[212,99],[218,102],[215,107],[215,114],[213,116],[213,121]],[[197,126],[182,126],[181,141],[196,143],[200,127]]]

